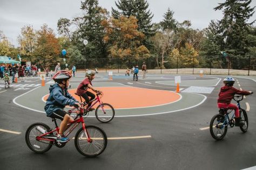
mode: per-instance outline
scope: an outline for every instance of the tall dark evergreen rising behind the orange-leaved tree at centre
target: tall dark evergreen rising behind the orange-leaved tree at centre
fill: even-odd
[[[118,10],[112,8],[114,18],[134,16],[138,19],[138,31],[143,32],[146,39],[154,35],[156,31],[152,29],[151,23],[153,15],[146,0],[118,0],[115,3]]]

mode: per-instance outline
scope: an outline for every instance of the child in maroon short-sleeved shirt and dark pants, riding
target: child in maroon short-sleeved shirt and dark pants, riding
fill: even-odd
[[[79,96],[82,96],[87,104],[87,108],[91,106],[91,101],[95,99],[95,95],[91,93],[90,91],[87,91],[88,88],[92,89],[96,93],[99,90],[96,90],[92,87],[92,80],[95,79],[95,72],[93,70],[87,70],[86,72],[86,78],[79,84],[77,88],[76,94]],[[90,97],[90,98],[89,98]],[[90,111],[95,110],[94,108],[90,108]]]

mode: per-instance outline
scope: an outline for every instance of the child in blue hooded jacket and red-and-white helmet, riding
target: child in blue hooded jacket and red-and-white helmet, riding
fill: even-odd
[[[69,140],[69,138],[63,137],[63,132],[65,131],[68,123],[74,121],[73,118],[63,109],[66,105],[80,107],[80,103],[68,92],[69,80],[71,77],[72,75],[70,72],[65,70],[57,72],[52,77],[56,83],[50,86],[50,95],[46,100],[46,105],[44,107],[46,116],[58,118],[62,121],[57,135],[57,141],[59,142],[66,142]]]

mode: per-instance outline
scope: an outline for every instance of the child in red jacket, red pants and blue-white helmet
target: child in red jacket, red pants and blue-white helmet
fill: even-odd
[[[221,87],[219,98],[218,98],[218,108],[224,109],[234,109],[235,110],[235,126],[242,126],[244,122],[241,122],[239,116],[239,108],[237,105],[231,103],[232,98],[235,94],[239,95],[250,95],[252,91],[238,90],[233,87],[234,79],[232,77],[226,77],[224,79],[225,86]]]

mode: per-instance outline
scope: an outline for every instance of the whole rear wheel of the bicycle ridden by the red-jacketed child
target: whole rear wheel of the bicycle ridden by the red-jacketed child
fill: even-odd
[[[214,115],[210,123],[210,132],[214,139],[221,140],[225,137],[227,133],[227,124],[225,122],[225,117],[221,114]]]

